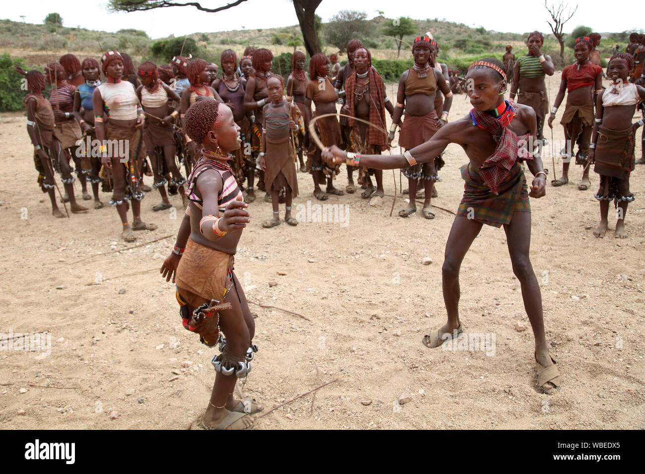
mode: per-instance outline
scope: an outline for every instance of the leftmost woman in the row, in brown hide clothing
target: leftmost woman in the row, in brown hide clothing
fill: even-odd
[[[52,104],[43,96],[45,75],[40,71],[25,72],[28,94],[23,104],[27,110],[27,133],[34,144],[34,164],[38,175],[38,184],[44,193],[49,194],[52,202],[52,215],[65,217],[56,204],[54,168],[62,175],[64,188],[69,196],[72,212],[83,212],[87,208],[77,204],[74,197],[74,177],[67,163],[67,157],[61,143],[54,135],[54,110]]]

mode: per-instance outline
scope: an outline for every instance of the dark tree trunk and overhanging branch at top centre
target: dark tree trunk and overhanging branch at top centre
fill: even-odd
[[[178,1],[170,0],[110,0],[108,3],[108,10],[113,12],[142,12],[146,10],[154,10],[155,8],[165,8],[168,6],[194,6],[197,10],[208,13],[217,13],[222,10],[228,10],[233,6],[240,5],[246,0],[234,0],[232,3],[227,3],[223,6],[216,8],[206,8],[201,6],[198,2],[181,3]],[[321,44],[318,41],[315,25],[315,12],[318,5],[323,0],[293,0],[293,8],[295,8],[295,15],[298,17],[300,29],[303,32],[304,47],[309,55],[313,56],[322,51]],[[243,27],[244,28],[244,27]]]

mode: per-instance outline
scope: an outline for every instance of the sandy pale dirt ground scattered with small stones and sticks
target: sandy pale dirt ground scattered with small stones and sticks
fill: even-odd
[[[558,77],[550,79],[551,103]],[[394,97],[393,84],[388,88]],[[450,117],[469,109],[466,96],[456,95]],[[564,138],[562,112],[564,106],[556,140]],[[548,127],[546,136],[551,139]],[[49,331],[52,344],[50,355],[0,351],[0,427],[186,428],[206,408],[214,379],[210,359],[217,351],[181,326],[174,285],[158,271],[174,243],[181,199],[172,197],[175,208],[159,213],[151,210],[159,202],[156,192],[143,201],[143,219],[159,229],[137,233],[136,243],[170,237],[101,255],[111,244],[117,250],[132,246],[119,238],[114,209],[52,217],[35,183],[24,114],[0,115],[0,147],[0,332]],[[550,146],[546,152],[550,180]],[[466,156],[451,145],[444,158],[433,204],[455,212]],[[579,173],[572,166],[571,175]],[[330,196],[327,204],[348,206],[342,222],[310,219],[266,230],[261,221],[270,217],[270,204],[250,204],[252,222],[235,257],[248,299],[311,321],[250,305],[259,352],[244,395],[267,411],[335,380],[255,427],[645,428],[645,166],[637,165],[631,177],[636,200],[624,240],[613,238],[611,219],[604,239],[591,234],[599,220],[593,172],[586,192],[573,184],[548,185],[546,197],[531,199],[531,260],[541,282],[546,337],[561,372],[553,395],[537,386],[533,336],[501,229],[484,226],[462,265],[465,344],[456,350],[421,344],[445,319],[441,265],[453,215],[437,208],[437,217],[427,221],[419,206],[416,215],[401,219],[399,196],[389,217],[399,189],[399,172],[394,174],[396,186],[393,173],[384,172],[389,196],[381,206],[370,206],[359,193]],[[317,204],[310,175],[298,177],[301,195],[294,206]],[[152,184],[150,177],[145,181]],[[343,169],[338,185],[345,184]],[[75,186],[79,195],[80,184]],[[424,257],[432,264],[422,265]],[[468,347],[475,336],[488,338],[483,350]]]

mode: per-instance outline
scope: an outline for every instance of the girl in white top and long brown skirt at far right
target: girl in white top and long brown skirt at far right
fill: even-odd
[[[634,169],[636,130],[642,119],[631,123],[636,105],[645,100],[645,88],[629,83],[627,77],[633,66],[633,56],[619,53],[611,56],[607,73],[612,84],[596,99],[596,118],[589,150],[593,170],[600,175],[600,188],[595,198],[600,201],[600,223],[593,231],[604,237],[608,229],[609,202],[617,209],[615,237],[624,239],[627,206],[634,200],[630,192],[630,173]]]

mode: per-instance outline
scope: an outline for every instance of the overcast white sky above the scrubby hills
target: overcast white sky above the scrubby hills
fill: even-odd
[[[201,5],[213,8],[230,3],[231,0],[203,0]],[[549,4],[553,1],[548,0]],[[181,3],[181,2],[180,2]],[[568,1],[576,5],[575,0]],[[642,28],[637,25],[637,16],[642,19],[645,7],[640,15],[633,8],[633,15],[613,13],[600,15],[608,11],[610,1],[582,0],[573,18],[566,23],[564,32],[570,33],[575,26],[586,25],[599,32],[622,32]],[[630,2],[631,3],[631,2]],[[638,4],[634,1],[632,6]],[[239,30],[243,26],[248,29],[275,28],[279,26],[297,25],[298,20],[290,0],[246,0],[241,5],[216,14],[200,12],[192,6],[174,6],[149,12],[108,13],[106,1],[94,0],[3,0],[0,17],[14,21],[22,21],[25,15],[27,23],[43,23],[50,12],[57,12],[63,18],[64,26],[81,26],[91,30],[106,30],[115,32],[121,28],[137,28],[144,30],[150,37],[166,37],[170,34],[180,36],[194,32],[216,32]],[[427,5],[427,6],[426,6]],[[339,10],[362,10],[369,17],[378,15],[382,10],[386,17],[409,16],[414,19],[445,18],[448,21],[464,23],[468,26],[484,26],[487,30],[502,32],[524,33],[532,30],[550,32],[546,20],[548,13],[541,0],[515,0],[512,2],[493,0],[461,0],[457,2],[442,1],[442,6],[433,6],[432,1],[418,0],[323,0],[316,12],[323,21],[328,21]],[[420,8],[423,6],[422,8]],[[454,8],[458,6],[459,8]],[[370,10],[367,10],[370,8]],[[622,10],[620,10],[622,11]],[[625,10],[626,11],[626,10]],[[623,11],[624,13],[624,11]]]

